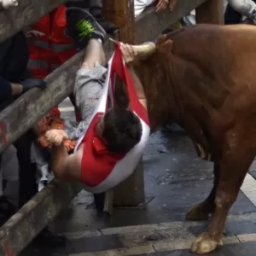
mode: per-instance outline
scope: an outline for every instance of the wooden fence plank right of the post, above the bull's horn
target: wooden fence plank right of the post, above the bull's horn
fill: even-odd
[[[169,10],[157,14],[154,7],[148,7],[136,18],[136,44],[154,41],[162,31],[207,0],[178,0],[172,13]]]

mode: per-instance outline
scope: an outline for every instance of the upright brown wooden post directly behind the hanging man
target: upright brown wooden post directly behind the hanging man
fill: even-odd
[[[119,28],[119,40],[121,42],[135,44],[133,0],[103,0],[103,13],[106,20],[112,21]],[[108,198],[108,194],[106,198]],[[131,177],[113,189],[113,206],[136,207],[143,201],[144,177],[143,162],[141,161]]]

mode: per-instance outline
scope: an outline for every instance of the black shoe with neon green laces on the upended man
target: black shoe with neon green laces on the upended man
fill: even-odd
[[[77,47],[86,46],[93,38],[104,42],[105,30],[86,9],[68,8],[67,20],[67,35]]]

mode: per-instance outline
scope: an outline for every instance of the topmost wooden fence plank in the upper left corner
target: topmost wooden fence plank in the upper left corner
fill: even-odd
[[[67,0],[18,0],[18,6],[0,12],[0,43],[65,2]]]

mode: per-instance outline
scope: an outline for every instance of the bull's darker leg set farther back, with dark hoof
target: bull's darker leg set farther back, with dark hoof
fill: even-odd
[[[219,164],[214,163],[213,167],[213,188],[208,195],[207,199],[205,201],[202,201],[201,203],[197,204],[195,207],[192,207],[189,212],[187,213],[186,218],[189,220],[207,220],[209,218],[209,215],[212,214],[215,211],[215,195],[216,190],[218,188],[218,178],[219,178]]]

